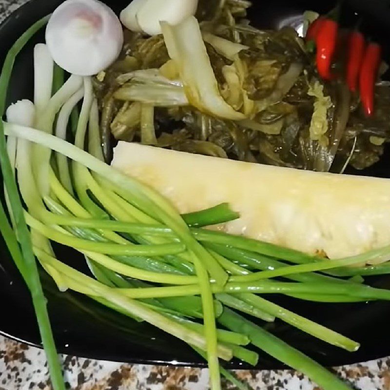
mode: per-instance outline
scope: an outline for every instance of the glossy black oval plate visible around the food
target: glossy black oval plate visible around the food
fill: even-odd
[[[33,0],[22,6],[0,26],[0,63],[12,43],[33,22],[52,12],[59,0]],[[116,12],[127,5],[126,1],[106,1]],[[383,0],[356,0],[354,9],[368,15],[373,36],[386,37],[390,26],[388,5]],[[351,1],[352,4],[352,1]],[[311,9],[312,1],[270,2],[254,0],[250,19],[262,28],[275,28],[283,20]],[[329,1],[317,1],[319,12],[328,11]],[[373,27],[374,26],[374,27]],[[11,81],[8,102],[32,95],[32,49],[35,43],[43,41],[43,32],[37,35],[22,51],[16,61]],[[389,176],[389,154],[380,164],[364,174]],[[350,172],[354,173],[354,172]],[[1,239],[1,238],[0,238]],[[57,246],[59,258],[68,264],[88,272],[84,259],[72,249]],[[60,293],[51,279],[42,272],[42,283],[48,298],[50,318],[56,343],[60,352],[83,357],[144,364],[176,364],[204,366],[201,359],[184,343],[149,326],[138,324],[116,312],[111,312],[92,300],[77,293]],[[375,286],[390,288],[390,276],[371,278]],[[39,332],[29,293],[10,258],[4,242],[0,242],[0,333],[39,346]],[[344,365],[390,355],[390,332],[387,318],[390,303],[374,302],[363,304],[314,304],[284,296],[270,296],[270,299],[290,310],[311,318],[335,331],[361,342],[359,351],[349,353],[292,327],[276,321],[266,327],[300,351],[308,354],[325,366]],[[230,368],[246,368],[247,365],[233,361]],[[260,353],[258,369],[280,369],[284,366]]]

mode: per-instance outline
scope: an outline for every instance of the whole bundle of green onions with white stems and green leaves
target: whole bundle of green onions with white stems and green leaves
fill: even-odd
[[[0,77],[1,114],[15,57],[46,21],[34,24],[8,53]],[[42,44],[35,48],[34,63],[39,80],[34,104],[18,102],[7,110],[7,121],[0,122],[0,162],[11,221],[1,206],[0,230],[32,294],[54,389],[62,390],[64,384],[35,258],[61,291],[85,294],[130,317],[129,321],[146,321],[185,341],[207,359],[213,390],[220,389],[220,372],[245,388],[219,366],[218,359],[236,357],[256,365],[258,354],[247,349],[248,344],[309,375],[325,390],[350,389],[239,312],[264,322],[277,318],[327,343],[356,351],[357,342],[261,294],[317,302],[390,300],[390,291],[364,285],[362,278],[342,278],[389,273],[388,263],[347,266],[390,258],[390,247],[323,260],[202,229],[238,215],[226,204],[179,215],[154,190],[107,165],[91,78],[72,75],[64,82],[64,72],[54,66]],[[73,135],[67,138],[68,122]],[[66,140],[73,137],[74,144]],[[83,254],[94,277],[57,259],[52,242]]]

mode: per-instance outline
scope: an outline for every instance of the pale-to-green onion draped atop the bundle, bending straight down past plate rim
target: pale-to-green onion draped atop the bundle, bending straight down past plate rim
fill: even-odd
[[[163,223],[166,223],[171,227],[182,242],[187,246],[190,253],[194,255],[194,265],[196,274],[201,286],[202,301],[203,301],[203,313],[204,313],[204,325],[205,336],[207,339],[207,355],[210,370],[211,386],[214,390],[220,389],[219,379],[219,364],[217,359],[217,342],[216,342],[216,327],[215,316],[213,307],[213,297],[209,284],[209,276],[206,270],[210,271],[211,276],[215,279],[216,283],[224,284],[227,279],[227,274],[222,268],[216,267],[219,264],[201,245],[199,245],[191,236],[188,231],[188,227],[177,214],[175,208],[171,206],[161,195],[151,188],[144,186],[136,180],[120,173],[113,169],[96,157],[89,155],[82,151],[78,147],[69,144],[57,137],[53,137],[49,134],[44,134],[35,129],[24,128],[22,126],[16,126],[12,124],[6,124],[5,129],[8,135],[11,133],[13,136],[22,137],[28,139],[31,142],[39,143],[42,146],[51,148],[58,153],[73,159],[74,161],[88,167],[100,176],[103,176],[107,180],[113,183],[113,186],[122,188],[130,195],[131,203],[139,207],[152,217],[161,218]]]

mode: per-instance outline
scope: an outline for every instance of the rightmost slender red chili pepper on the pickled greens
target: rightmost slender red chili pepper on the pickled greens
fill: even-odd
[[[365,114],[370,117],[374,112],[374,86],[378,77],[382,58],[382,48],[377,43],[369,43],[360,69],[360,98]]]

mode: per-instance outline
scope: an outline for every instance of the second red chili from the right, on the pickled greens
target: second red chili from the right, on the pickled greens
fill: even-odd
[[[347,84],[351,92],[357,89],[359,72],[362,66],[366,40],[359,31],[351,32],[348,39],[348,59],[347,59]]]

